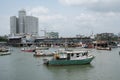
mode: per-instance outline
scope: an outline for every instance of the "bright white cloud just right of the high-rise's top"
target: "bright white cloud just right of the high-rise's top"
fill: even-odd
[[[63,15],[52,13],[48,8],[43,6],[27,8],[27,12],[29,15],[38,17],[40,22],[48,22],[51,20],[53,21],[53,20],[65,19]]]

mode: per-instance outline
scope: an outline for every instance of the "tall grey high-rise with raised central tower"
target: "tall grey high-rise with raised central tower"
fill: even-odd
[[[25,10],[20,10],[18,18],[10,17],[11,34],[31,34],[38,35],[38,18],[26,16]]]

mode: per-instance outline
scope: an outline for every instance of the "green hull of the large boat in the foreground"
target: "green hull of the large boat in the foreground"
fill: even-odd
[[[94,59],[94,56],[87,59],[81,60],[49,60],[46,62],[47,65],[84,65],[90,64],[90,62]]]

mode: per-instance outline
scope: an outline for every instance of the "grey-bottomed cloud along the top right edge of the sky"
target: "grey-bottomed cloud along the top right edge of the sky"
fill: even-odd
[[[120,0],[59,0],[59,2],[97,12],[120,12]]]

